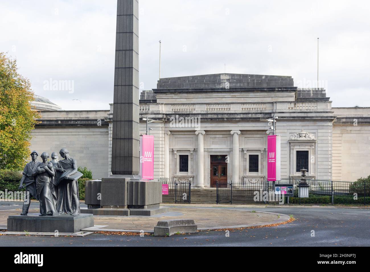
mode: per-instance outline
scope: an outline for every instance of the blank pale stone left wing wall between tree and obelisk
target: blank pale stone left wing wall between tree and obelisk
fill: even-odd
[[[108,177],[108,112],[43,111],[41,124],[31,132],[30,150],[51,156],[67,148],[78,166],[91,169],[94,179]]]

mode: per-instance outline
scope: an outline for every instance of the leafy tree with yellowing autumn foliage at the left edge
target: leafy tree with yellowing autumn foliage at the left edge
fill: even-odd
[[[30,104],[33,94],[17,61],[0,52],[0,169],[23,169],[30,155],[31,131],[40,117]]]

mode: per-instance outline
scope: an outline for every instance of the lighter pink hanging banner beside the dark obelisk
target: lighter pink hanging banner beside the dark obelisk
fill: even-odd
[[[140,175],[142,179],[154,179],[154,136],[140,137]]]

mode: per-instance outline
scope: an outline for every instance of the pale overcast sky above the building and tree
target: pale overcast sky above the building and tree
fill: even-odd
[[[0,51],[17,58],[33,91],[64,110],[113,101],[116,0],[1,0]],[[317,77],[333,107],[370,107],[370,1],[139,0],[139,75]],[[69,80],[67,90],[46,81]],[[73,85],[72,85],[73,84]],[[78,100],[73,100],[78,99]]]

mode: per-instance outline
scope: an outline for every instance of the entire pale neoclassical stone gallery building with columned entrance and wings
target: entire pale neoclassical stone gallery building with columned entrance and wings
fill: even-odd
[[[278,117],[281,176],[353,181],[370,174],[370,108],[332,108],[325,90],[299,89],[293,78],[210,74],[161,78],[140,96],[140,117],[155,136],[155,178],[214,187],[216,181],[266,179],[266,120]],[[109,111],[43,111],[31,149],[69,147],[94,178],[110,172]],[[141,133],[146,122],[140,121]],[[51,149],[47,139],[52,139]]]

